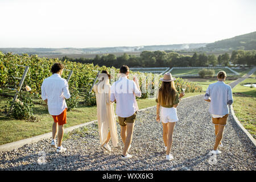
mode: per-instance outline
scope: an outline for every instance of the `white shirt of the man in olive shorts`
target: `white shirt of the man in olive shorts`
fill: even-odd
[[[141,97],[141,91],[133,80],[121,77],[111,86],[110,101],[117,101],[115,113],[122,118],[127,118],[139,110],[136,98]]]

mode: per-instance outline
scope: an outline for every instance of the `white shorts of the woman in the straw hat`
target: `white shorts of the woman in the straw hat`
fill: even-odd
[[[175,107],[167,108],[161,106],[160,119],[163,123],[179,121]]]

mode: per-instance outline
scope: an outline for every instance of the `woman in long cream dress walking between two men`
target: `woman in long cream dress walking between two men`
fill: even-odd
[[[117,125],[115,122],[114,105],[110,102],[109,77],[105,73],[98,75],[99,82],[93,86],[96,93],[98,131],[100,133],[100,143],[104,144],[110,131],[111,140],[114,147],[117,147]]]

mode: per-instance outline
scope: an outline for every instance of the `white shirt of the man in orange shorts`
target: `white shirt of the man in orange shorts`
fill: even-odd
[[[42,99],[47,99],[48,111],[51,115],[60,115],[68,108],[65,98],[70,98],[68,82],[55,73],[44,79],[41,86]]]

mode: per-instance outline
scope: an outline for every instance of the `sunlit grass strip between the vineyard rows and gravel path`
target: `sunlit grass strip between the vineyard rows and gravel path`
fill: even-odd
[[[196,96],[201,93],[186,93],[185,97]],[[0,96],[1,107],[6,104],[7,98]],[[155,99],[137,100],[139,109],[155,106]],[[115,107],[115,104],[114,104]],[[35,105],[34,115],[39,118],[39,122],[28,122],[24,120],[16,120],[7,118],[0,113],[0,144],[15,142],[17,140],[35,137],[52,131],[52,116],[49,115],[47,106]],[[67,113],[67,124],[65,127],[79,125],[81,123],[93,121],[97,119],[96,106],[79,106]],[[68,136],[65,136],[67,138]]]

